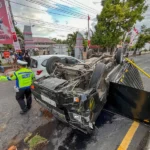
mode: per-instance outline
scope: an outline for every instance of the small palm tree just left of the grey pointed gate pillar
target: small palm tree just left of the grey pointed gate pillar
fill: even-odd
[[[72,34],[68,34],[67,36],[67,43],[69,45],[69,49],[71,50],[71,56],[74,56],[74,47],[76,44],[76,38],[77,38],[78,32],[73,32]]]

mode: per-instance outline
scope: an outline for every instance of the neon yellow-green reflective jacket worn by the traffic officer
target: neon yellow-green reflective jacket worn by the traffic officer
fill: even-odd
[[[30,69],[21,68],[18,71],[14,72],[11,77],[0,76],[0,81],[16,80],[17,88],[27,89],[30,88],[34,78],[34,73]]]

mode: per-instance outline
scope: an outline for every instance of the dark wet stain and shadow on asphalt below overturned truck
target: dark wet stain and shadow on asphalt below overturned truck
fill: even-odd
[[[112,119],[112,114],[103,111],[96,121],[96,129],[91,135],[71,129],[69,126],[54,119],[48,124],[37,128],[33,132],[32,137],[39,134],[49,141],[42,149],[41,147],[37,147],[36,150],[85,150],[87,143],[97,142],[97,130],[104,124],[111,123]],[[24,143],[24,140],[22,140],[18,144],[18,149],[25,148],[28,148],[28,145]]]

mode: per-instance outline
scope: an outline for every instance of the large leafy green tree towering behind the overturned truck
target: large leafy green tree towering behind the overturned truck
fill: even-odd
[[[142,14],[147,6],[144,0],[104,0],[103,4],[91,43],[110,48],[112,52],[136,21],[144,18]]]

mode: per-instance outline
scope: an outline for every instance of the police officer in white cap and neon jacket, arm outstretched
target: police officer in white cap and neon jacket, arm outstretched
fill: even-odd
[[[16,86],[14,87],[16,91],[16,100],[22,109],[20,114],[25,114],[31,108],[32,104],[30,86],[34,80],[34,73],[30,69],[26,68],[27,62],[17,60],[17,63],[19,70],[8,77],[0,76],[0,81],[16,80]],[[26,103],[24,98],[26,98]]]

